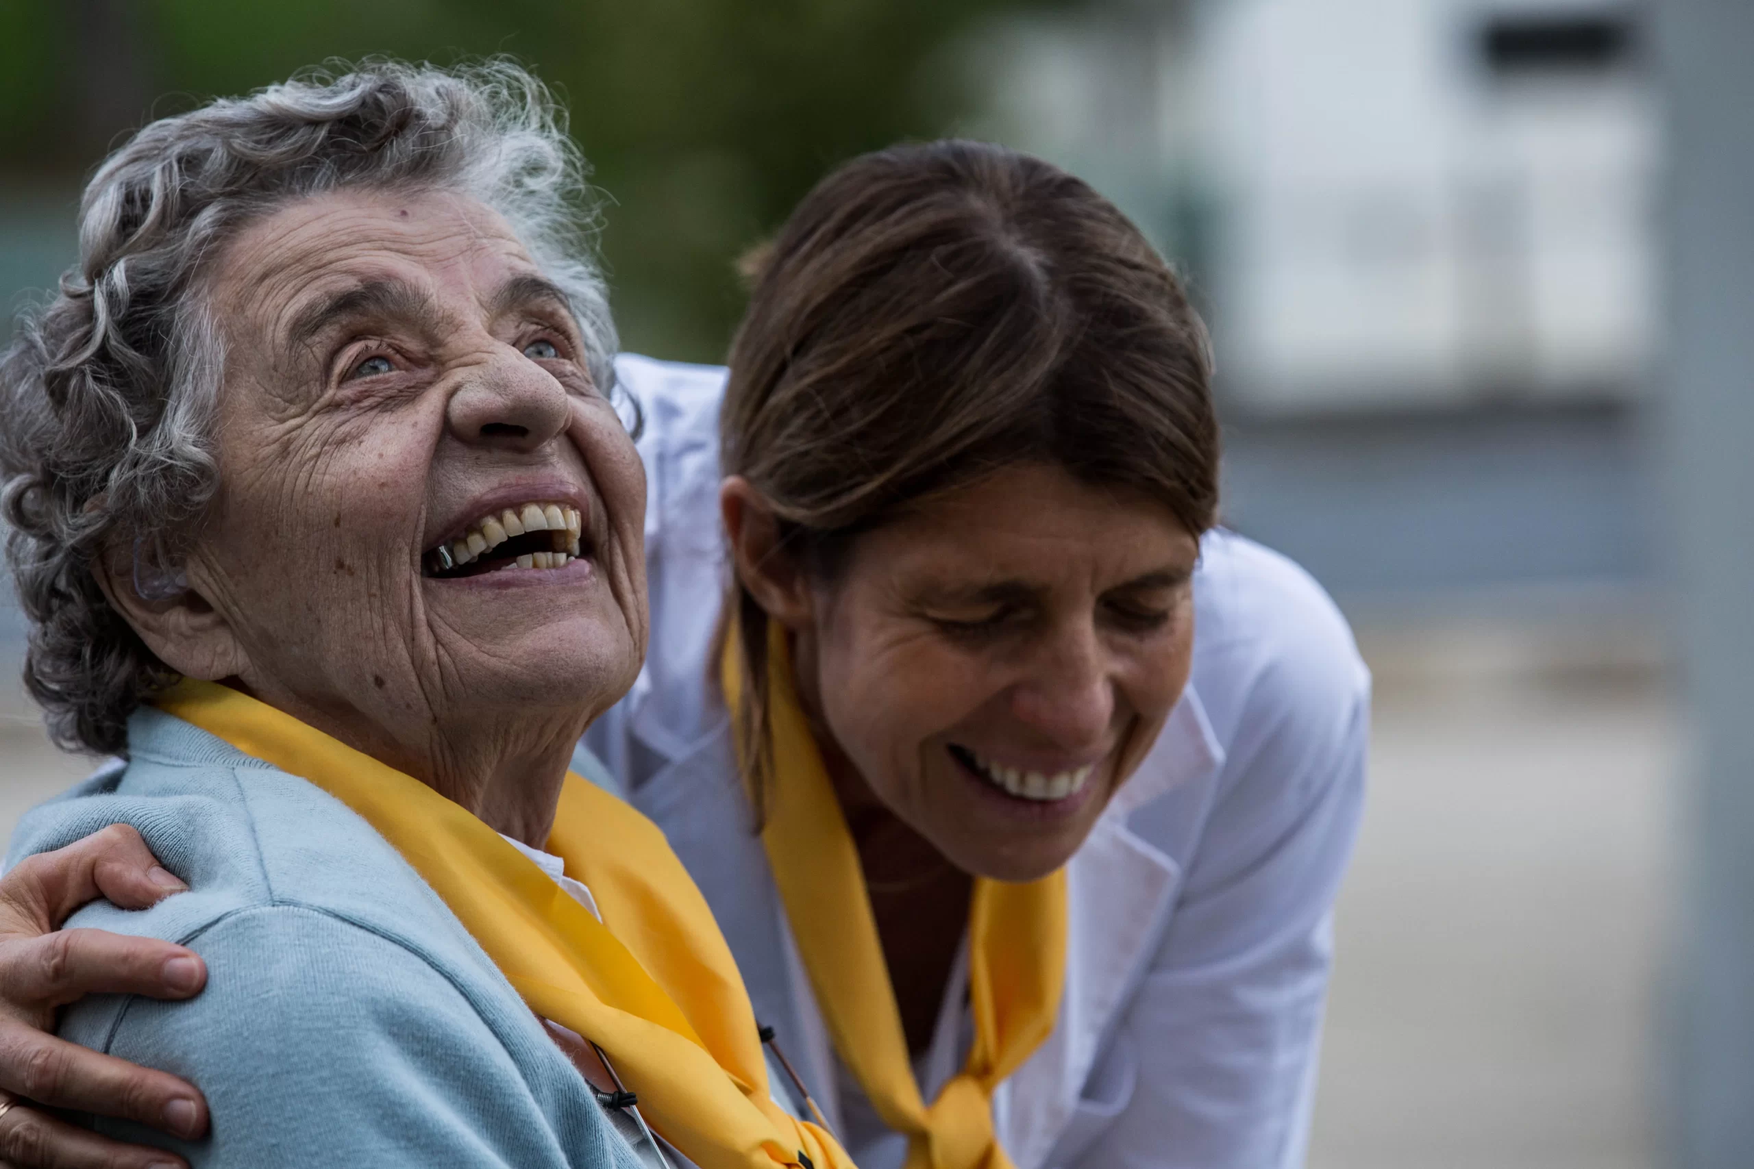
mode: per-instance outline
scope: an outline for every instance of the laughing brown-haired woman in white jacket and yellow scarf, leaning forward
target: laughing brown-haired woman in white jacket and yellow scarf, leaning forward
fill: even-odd
[[[781,231],[728,375],[617,372],[654,652],[586,738],[859,1165],[1300,1164],[1368,677],[1212,529],[1205,337],[1138,230],[1012,151],[882,151]]]

